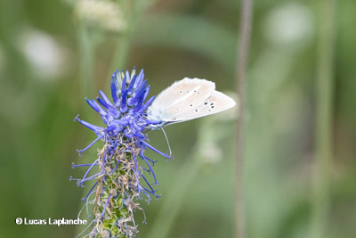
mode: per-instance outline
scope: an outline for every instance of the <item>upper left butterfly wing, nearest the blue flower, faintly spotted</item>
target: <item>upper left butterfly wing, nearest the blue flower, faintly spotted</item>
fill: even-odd
[[[174,122],[177,115],[198,107],[214,92],[215,84],[206,79],[183,78],[167,87],[150,105],[150,120]]]

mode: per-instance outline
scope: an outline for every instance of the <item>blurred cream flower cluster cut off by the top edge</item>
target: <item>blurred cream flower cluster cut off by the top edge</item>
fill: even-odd
[[[122,31],[126,24],[118,4],[107,0],[79,0],[75,15],[90,27]]]

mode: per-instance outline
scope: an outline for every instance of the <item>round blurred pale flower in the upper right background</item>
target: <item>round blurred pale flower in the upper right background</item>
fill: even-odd
[[[295,47],[312,38],[313,25],[312,11],[307,6],[289,2],[271,10],[264,21],[263,34],[272,44]]]

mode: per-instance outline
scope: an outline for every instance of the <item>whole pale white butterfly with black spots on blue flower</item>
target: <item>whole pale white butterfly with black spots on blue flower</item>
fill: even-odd
[[[231,97],[215,90],[214,82],[183,78],[158,94],[147,111],[147,119],[160,121],[150,125],[151,129],[159,129],[167,124],[225,111],[235,105]]]

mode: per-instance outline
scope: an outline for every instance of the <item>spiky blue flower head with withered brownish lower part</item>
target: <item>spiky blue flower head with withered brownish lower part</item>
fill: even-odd
[[[95,126],[78,116],[75,120],[90,128],[97,135],[92,144],[85,149],[78,150],[79,154],[85,152],[97,141],[104,145],[99,150],[98,159],[91,164],[73,165],[89,167],[85,176],[77,180],[77,185],[84,186],[85,182],[96,180],[92,189],[84,198],[85,205],[93,204],[93,230],[92,237],[134,237],[137,226],[134,223],[134,210],[142,209],[134,199],[142,199],[142,195],[150,201],[150,196],[158,198],[159,195],[152,185],[158,185],[157,178],[152,170],[155,160],[144,155],[146,148],[169,159],[166,153],[159,152],[148,144],[145,130],[159,124],[159,121],[147,119],[145,111],[154,96],[147,99],[150,86],[144,79],[143,70],[136,75],[135,69],[128,71],[117,70],[111,78],[112,102],[102,92],[97,102],[86,99],[86,102],[101,115],[104,127]],[[93,168],[98,172],[88,176]],[[144,175],[151,175],[153,184]],[[90,200],[95,194],[93,200]]]

